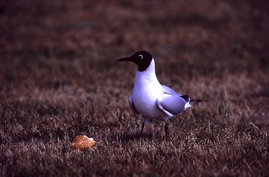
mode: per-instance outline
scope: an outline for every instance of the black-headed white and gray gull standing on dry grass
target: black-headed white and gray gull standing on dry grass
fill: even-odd
[[[129,105],[135,114],[142,115],[141,137],[145,124],[150,119],[165,122],[165,140],[167,141],[167,120],[183,112],[192,103],[201,100],[190,100],[188,95],[181,95],[171,88],[160,85],[156,73],[154,59],[149,52],[139,51],[134,55],[118,59],[118,62],[129,61],[138,65],[135,75],[133,94],[129,97]]]

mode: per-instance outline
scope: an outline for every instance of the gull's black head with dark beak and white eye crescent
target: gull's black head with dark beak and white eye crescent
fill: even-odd
[[[149,67],[151,60],[152,56],[149,52],[139,51],[130,57],[118,59],[118,62],[134,62],[138,65],[138,71],[145,71]]]

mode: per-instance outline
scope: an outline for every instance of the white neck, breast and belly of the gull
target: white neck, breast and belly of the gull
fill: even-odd
[[[160,119],[166,114],[158,107],[157,99],[164,94],[163,89],[155,74],[155,63],[145,71],[137,71],[134,81],[132,99],[137,111],[149,119]]]

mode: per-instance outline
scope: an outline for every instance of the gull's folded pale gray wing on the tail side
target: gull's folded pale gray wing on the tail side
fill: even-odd
[[[184,111],[187,101],[180,96],[180,94],[171,95],[165,93],[157,99],[157,104],[160,109],[172,117]]]

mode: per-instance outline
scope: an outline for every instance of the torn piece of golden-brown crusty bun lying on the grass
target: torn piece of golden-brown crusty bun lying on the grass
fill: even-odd
[[[79,149],[81,151],[88,150],[90,147],[95,145],[93,138],[88,138],[85,135],[78,135],[72,141],[72,149]]]

